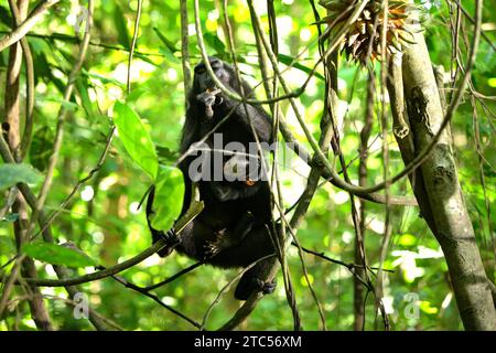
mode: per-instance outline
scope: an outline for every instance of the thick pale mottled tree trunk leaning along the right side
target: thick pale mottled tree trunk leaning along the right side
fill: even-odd
[[[403,51],[405,97],[416,153],[439,131],[443,109],[422,33]],[[443,131],[421,165],[433,226],[446,258],[456,303],[466,330],[496,330],[496,312],[474,229],[463,200],[450,139]],[[425,200],[419,200],[419,205]]]

